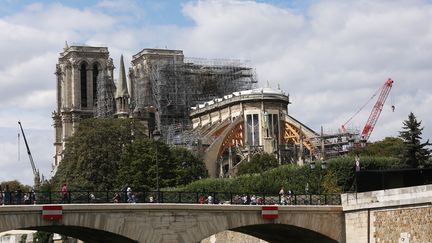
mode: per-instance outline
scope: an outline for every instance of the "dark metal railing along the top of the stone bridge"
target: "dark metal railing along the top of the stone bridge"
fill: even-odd
[[[59,203],[179,203],[237,205],[340,205],[340,194],[229,193],[179,191],[3,192],[0,205]]]

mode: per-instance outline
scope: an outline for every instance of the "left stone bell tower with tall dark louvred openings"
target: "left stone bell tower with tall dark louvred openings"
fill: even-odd
[[[72,135],[79,121],[98,114],[101,83],[109,84],[115,89],[113,69],[107,47],[68,46],[66,43],[60,53],[55,72],[57,107],[52,116],[55,129],[53,173],[62,159],[65,141]],[[103,104],[105,110],[106,107],[112,107],[112,111],[108,109],[106,112],[114,114],[113,94],[108,96],[105,103],[110,103]]]

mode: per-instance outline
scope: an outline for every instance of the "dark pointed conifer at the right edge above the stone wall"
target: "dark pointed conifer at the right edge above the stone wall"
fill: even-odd
[[[421,121],[417,121],[417,118],[411,112],[408,115],[408,120],[403,122],[402,129],[399,132],[399,137],[404,142],[402,161],[414,168],[427,165],[431,154],[427,146],[430,146],[431,143],[429,143],[429,140],[421,143],[423,131]]]

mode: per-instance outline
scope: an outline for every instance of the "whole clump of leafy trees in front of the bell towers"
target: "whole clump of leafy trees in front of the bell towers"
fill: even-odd
[[[191,174],[189,174],[191,173]],[[134,190],[190,183],[207,172],[189,150],[148,139],[145,127],[130,119],[87,119],[68,140],[64,159],[52,180],[73,190]]]

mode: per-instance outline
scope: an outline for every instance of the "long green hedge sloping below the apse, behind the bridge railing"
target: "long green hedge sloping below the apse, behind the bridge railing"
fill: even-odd
[[[177,188],[183,191],[202,192],[233,192],[233,193],[275,193],[281,186],[296,194],[305,193],[309,184],[309,193],[337,193],[354,190],[354,156],[339,157],[327,161],[327,169],[320,169],[320,164],[314,170],[309,166],[282,165],[263,173],[245,174],[234,178],[208,178],[192,182]],[[386,157],[360,158],[362,169],[392,169],[401,168],[400,160]]]

